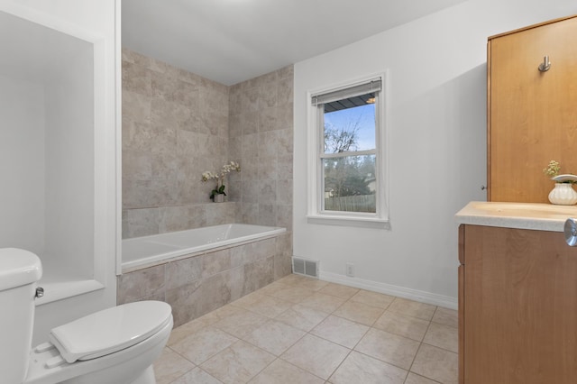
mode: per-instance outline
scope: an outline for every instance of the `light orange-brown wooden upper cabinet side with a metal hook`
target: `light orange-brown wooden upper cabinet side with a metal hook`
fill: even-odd
[[[547,203],[549,160],[577,174],[577,16],[490,37],[487,64],[488,200]]]

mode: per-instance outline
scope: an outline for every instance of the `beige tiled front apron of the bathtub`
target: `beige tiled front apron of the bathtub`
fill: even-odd
[[[286,276],[288,240],[280,234],[124,273],[118,304],[165,301],[175,326],[182,325]]]

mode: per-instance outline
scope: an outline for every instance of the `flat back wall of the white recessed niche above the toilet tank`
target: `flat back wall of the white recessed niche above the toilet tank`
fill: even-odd
[[[44,250],[44,87],[0,76],[0,244]]]

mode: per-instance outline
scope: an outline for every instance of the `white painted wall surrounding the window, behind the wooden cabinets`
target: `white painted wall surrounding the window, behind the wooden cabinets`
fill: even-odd
[[[298,62],[294,254],[319,260],[321,279],[456,307],[453,215],[486,199],[487,37],[576,13],[572,0],[471,0]],[[383,69],[391,229],[307,224],[307,91]]]

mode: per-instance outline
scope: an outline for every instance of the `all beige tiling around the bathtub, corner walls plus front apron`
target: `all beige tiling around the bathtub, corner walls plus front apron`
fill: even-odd
[[[227,251],[216,252],[229,268],[214,274],[185,266],[193,271],[175,279],[176,263],[124,274],[118,303],[162,299],[184,322],[288,275],[293,67],[226,87],[131,50],[123,49],[122,64],[123,238],[234,222],[287,232],[261,261],[235,264],[231,255],[229,263]],[[228,202],[212,203],[214,185],[202,183],[201,174],[228,160],[238,161],[242,171],[228,176]],[[261,254],[242,252],[248,252],[244,261]],[[204,256],[189,260],[205,262]]]

